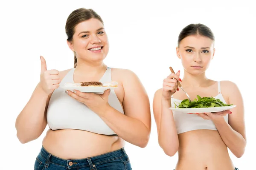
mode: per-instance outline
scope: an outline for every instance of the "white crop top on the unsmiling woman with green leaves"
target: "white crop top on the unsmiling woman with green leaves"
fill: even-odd
[[[215,99],[220,99],[223,103],[227,104],[225,99],[221,94],[221,85],[218,82],[218,95],[214,97]],[[171,98],[172,106],[175,103],[180,103],[182,100]],[[173,117],[175,120],[175,125],[177,129],[177,133],[184,133],[191,130],[198,129],[209,129],[209,130],[217,130],[212,120],[205,120],[198,115],[195,114],[187,114],[173,111]],[[228,114],[224,116],[225,121],[228,121]]]

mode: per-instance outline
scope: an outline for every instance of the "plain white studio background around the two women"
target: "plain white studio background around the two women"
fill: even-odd
[[[8,1],[0,4],[0,169],[32,170],[41,149],[44,133],[35,141],[20,144],[15,120],[39,81],[40,58],[48,69],[73,68],[73,53],[67,46],[65,23],[77,8],[93,8],[104,20],[110,41],[105,59],[109,67],[128,68],[142,81],[150,98],[161,88],[163,79],[183,68],[175,47],[181,29],[203,23],[215,34],[215,57],[207,71],[214,80],[235,82],[243,96],[247,147],[244,156],[230,153],[239,170],[255,168],[256,113],[255,87],[255,8],[242,1]],[[166,156],[157,143],[153,112],[150,141],[145,148],[126,144],[134,170],[173,170],[177,154]],[[26,123],[26,122],[24,122]]]

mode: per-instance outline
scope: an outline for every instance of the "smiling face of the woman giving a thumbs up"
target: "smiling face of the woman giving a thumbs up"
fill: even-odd
[[[75,27],[72,42],[67,41],[79,61],[102,62],[108,54],[108,37],[101,21],[95,18],[83,21]]]

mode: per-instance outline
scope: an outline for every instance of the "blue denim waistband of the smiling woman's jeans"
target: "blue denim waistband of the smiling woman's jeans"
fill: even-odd
[[[114,159],[119,159],[124,156],[127,156],[125,153],[124,147],[122,147],[119,150],[115,150],[113,152],[104,153],[102,155],[93,156],[89,158],[84,159],[61,159],[57,156],[53,156],[51,153],[47,152],[47,150],[44,149],[44,147],[41,148],[40,155],[48,161],[47,163],[53,163],[58,164],[67,168],[78,168],[78,167],[87,167],[90,166],[90,164],[100,164],[105,161],[111,161]],[[90,164],[89,164],[90,163]]]

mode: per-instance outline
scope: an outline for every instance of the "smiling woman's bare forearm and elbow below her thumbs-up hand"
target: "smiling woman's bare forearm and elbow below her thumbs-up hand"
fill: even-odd
[[[17,116],[15,127],[21,143],[37,139],[44,131],[49,96],[37,85],[29,102]]]

